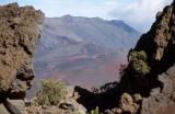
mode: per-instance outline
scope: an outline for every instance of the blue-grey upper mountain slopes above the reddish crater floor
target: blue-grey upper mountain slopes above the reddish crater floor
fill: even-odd
[[[59,45],[67,42],[89,42],[106,48],[130,48],[136,45],[139,35],[138,31],[122,21],[65,15],[45,20],[42,42],[47,39],[47,43],[56,44],[58,42],[52,39],[57,38],[61,43]]]

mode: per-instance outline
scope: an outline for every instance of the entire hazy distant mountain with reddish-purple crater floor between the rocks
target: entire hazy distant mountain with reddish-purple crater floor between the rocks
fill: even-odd
[[[124,62],[126,52],[139,36],[138,31],[122,21],[72,15],[46,18],[34,58],[35,73],[68,80],[71,77],[75,81],[92,76],[98,76],[96,81],[115,77],[116,71],[108,71],[113,76],[105,75],[104,69],[114,69],[112,61]]]

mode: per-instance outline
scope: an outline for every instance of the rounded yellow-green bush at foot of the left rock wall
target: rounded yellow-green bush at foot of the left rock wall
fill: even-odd
[[[42,89],[36,95],[39,105],[57,105],[66,95],[65,83],[58,80],[42,81]]]

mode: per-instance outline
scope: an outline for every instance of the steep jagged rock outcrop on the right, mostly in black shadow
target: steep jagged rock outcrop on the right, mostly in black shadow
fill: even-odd
[[[133,57],[136,58],[133,60]],[[143,96],[139,114],[174,114],[175,110],[175,1],[156,15],[128,55],[120,94]],[[137,64],[137,65],[135,65]]]

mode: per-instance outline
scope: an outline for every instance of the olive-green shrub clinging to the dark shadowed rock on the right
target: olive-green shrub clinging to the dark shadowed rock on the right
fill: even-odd
[[[147,64],[145,52],[131,52],[129,55],[129,60],[131,61],[133,70],[140,76],[145,76],[150,72],[150,67]]]

